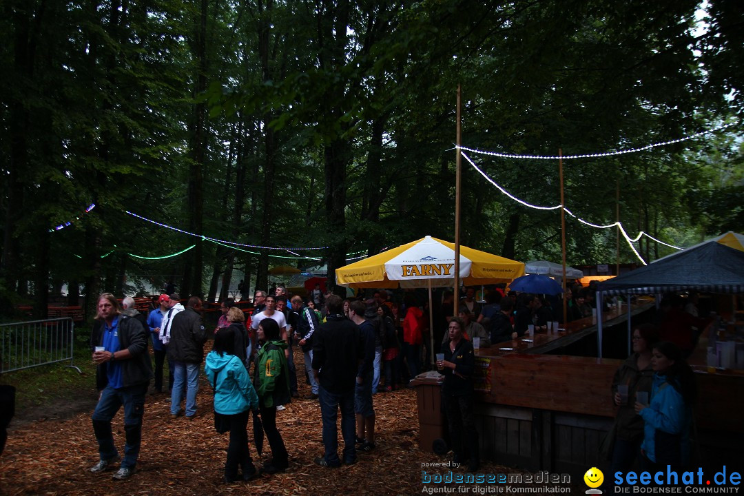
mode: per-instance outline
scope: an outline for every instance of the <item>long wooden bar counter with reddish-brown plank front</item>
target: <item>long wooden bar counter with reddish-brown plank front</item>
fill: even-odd
[[[611,314],[604,325],[624,325],[626,315]],[[615,417],[610,387],[623,360],[542,354],[592,339],[596,330],[590,318],[476,352],[474,415],[484,458],[577,475],[606,465],[600,445]],[[706,460],[721,460],[732,442],[744,442],[744,371],[693,368],[696,445]]]

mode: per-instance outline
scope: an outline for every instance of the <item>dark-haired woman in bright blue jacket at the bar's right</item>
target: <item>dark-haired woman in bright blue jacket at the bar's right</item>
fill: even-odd
[[[635,403],[635,411],[645,422],[641,468],[654,472],[669,465],[677,470],[689,458],[692,406],[697,399],[695,376],[682,350],[667,341],[653,347],[651,368],[651,403]]]

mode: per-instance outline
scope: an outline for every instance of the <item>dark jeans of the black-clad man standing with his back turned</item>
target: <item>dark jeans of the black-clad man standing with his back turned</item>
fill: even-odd
[[[323,445],[325,460],[330,466],[339,466],[339,438],[336,419],[341,408],[341,435],[344,437],[344,462],[356,460],[356,416],[354,416],[354,390],[344,393],[331,393],[318,386],[321,417],[323,418]]]

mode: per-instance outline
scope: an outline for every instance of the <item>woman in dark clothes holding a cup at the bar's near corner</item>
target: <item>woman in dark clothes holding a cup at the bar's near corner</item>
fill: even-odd
[[[470,460],[469,471],[480,467],[478,431],[472,418],[472,375],[475,355],[472,343],[464,338],[465,323],[455,317],[447,328],[449,341],[442,345],[444,359],[437,361],[437,370],[444,375],[442,402],[449,424],[449,437],[456,463]]]

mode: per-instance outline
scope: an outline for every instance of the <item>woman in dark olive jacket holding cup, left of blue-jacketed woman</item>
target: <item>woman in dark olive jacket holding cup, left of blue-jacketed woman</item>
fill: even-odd
[[[651,350],[658,341],[658,328],[652,323],[643,323],[633,329],[632,355],[620,365],[612,379],[612,400],[618,407],[615,425],[606,442],[606,455],[610,473],[629,471],[644,440],[644,420],[635,413],[637,393],[651,394],[653,370]]]

